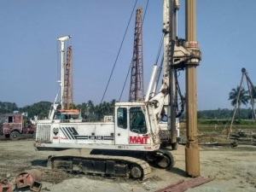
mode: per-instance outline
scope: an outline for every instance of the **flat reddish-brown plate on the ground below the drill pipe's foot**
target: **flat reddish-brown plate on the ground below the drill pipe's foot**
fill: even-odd
[[[180,180],[177,183],[172,183],[168,185],[166,188],[158,189],[155,192],[183,192],[189,188],[194,188],[203,183],[207,183],[213,180],[213,177],[195,177],[188,181]]]

